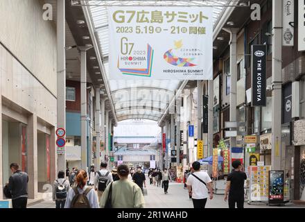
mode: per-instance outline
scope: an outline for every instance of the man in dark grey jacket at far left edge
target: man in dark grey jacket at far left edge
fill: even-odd
[[[28,173],[19,170],[17,163],[10,164],[10,176],[6,186],[12,196],[12,208],[26,208],[28,203]]]

